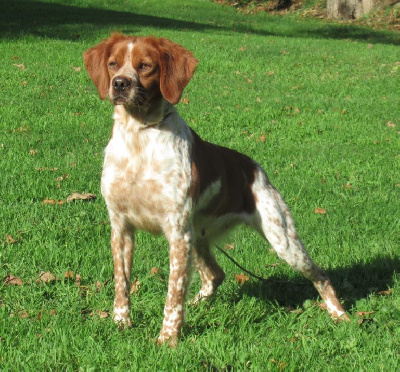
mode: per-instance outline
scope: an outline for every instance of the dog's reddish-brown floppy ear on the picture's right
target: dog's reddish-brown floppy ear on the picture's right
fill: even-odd
[[[183,90],[192,78],[197,59],[183,46],[168,39],[159,40],[162,49],[160,57],[160,90],[163,97],[176,105]]]

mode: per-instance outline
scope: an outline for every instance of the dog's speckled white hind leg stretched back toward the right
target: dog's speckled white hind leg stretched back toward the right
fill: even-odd
[[[280,258],[312,281],[332,318],[349,320],[327,274],[313,262],[298,237],[288,206],[263,172],[258,173],[252,189],[256,199],[253,226]]]

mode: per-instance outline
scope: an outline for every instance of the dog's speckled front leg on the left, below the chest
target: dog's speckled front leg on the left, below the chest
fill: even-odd
[[[131,326],[131,272],[134,231],[127,228],[112,228],[111,250],[114,260],[114,321]]]

